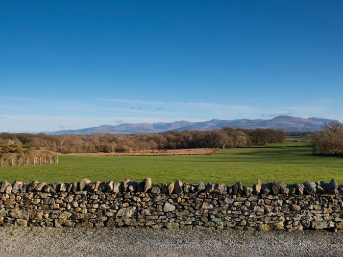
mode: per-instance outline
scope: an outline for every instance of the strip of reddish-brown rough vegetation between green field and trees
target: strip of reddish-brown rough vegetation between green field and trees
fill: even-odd
[[[129,153],[71,153],[66,155],[78,156],[166,156],[166,155],[209,155],[219,154],[217,148],[196,149],[157,149],[146,151],[134,151]]]

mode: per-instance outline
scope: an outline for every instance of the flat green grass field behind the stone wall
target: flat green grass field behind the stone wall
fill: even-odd
[[[329,181],[343,184],[343,158],[312,156],[311,147],[241,148],[221,150],[219,155],[93,157],[60,156],[58,165],[0,168],[0,181],[38,180],[48,183],[92,181],[142,181],[154,183],[241,181],[252,185],[257,178],[286,183]]]

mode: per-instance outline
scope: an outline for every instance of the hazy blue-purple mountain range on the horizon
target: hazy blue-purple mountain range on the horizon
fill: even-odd
[[[176,121],[171,123],[123,123],[120,125],[102,125],[92,128],[76,129],[76,130],[60,130],[48,132],[49,135],[90,135],[99,134],[135,134],[135,133],[161,133],[166,131],[204,131],[216,130],[222,127],[233,128],[273,128],[284,129],[286,131],[318,131],[324,122],[338,121],[325,118],[299,118],[292,116],[278,116],[272,119],[211,119],[204,122]]]

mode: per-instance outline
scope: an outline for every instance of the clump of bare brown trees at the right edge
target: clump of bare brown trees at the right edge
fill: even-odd
[[[343,155],[343,124],[329,122],[311,135],[314,154]]]

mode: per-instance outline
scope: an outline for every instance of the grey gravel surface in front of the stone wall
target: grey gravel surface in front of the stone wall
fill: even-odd
[[[0,256],[342,256],[343,233],[0,228]]]

